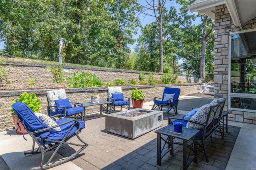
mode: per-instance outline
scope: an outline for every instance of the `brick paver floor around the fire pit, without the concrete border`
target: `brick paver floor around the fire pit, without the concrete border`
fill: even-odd
[[[166,126],[168,115],[164,115],[163,126]],[[192,162],[188,169],[224,170],[239,130],[240,128],[230,126],[229,134],[225,134],[224,140],[218,132],[213,134],[213,146],[210,140],[206,142],[209,162],[207,163],[204,154],[198,151],[198,163]],[[162,158],[161,166],[157,165],[155,130],[132,140],[106,132],[105,117],[99,117],[86,120],[86,128],[80,136],[89,146],[72,162],[82,169],[182,169],[182,146],[176,144],[174,156],[166,154]]]

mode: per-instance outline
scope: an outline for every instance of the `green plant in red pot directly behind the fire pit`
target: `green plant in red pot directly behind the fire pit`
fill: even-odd
[[[143,101],[145,98],[145,94],[143,93],[142,90],[135,88],[135,90],[132,91],[131,93],[131,98],[132,98],[132,107],[134,109],[136,108],[142,108]]]

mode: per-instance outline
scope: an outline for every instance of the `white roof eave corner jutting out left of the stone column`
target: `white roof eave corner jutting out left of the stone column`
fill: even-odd
[[[200,15],[206,14],[215,20],[215,6],[225,4],[224,0],[196,0],[188,5],[190,12],[198,12]]]

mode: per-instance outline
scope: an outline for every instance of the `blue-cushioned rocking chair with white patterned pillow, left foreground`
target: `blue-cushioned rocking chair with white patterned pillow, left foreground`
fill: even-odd
[[[78,133],[85,128],[84,121],[75,119],[59,119],[58,121],[53,121],[53,119],[47,115],[40,113],[36,115],[28,105],[20,101],[14,103],[12,107],[14,114],[17,115],[18,119],[20,119],[20,122],[22,122],[23,126],[33,139],[32,150],[24,151],[24,155],[41,153],[40,166],[34,167],[33,169],[48,169],[63,164],[74,158],[88,146],[88,144],[78,136]],[[64,117],[63,114],[56,116]],[[68,142],[73,136],[76,136],[81,144],[74,143],[74,140]],[[35,148],[35,142],[38,144],[38,148]],[[76,146],[77,151],[67,158],[53,161],[54,156],[63,145],[74,145]],[[44,164],[44,153],[52,149],[54,149],[52,156],[47,163]]]

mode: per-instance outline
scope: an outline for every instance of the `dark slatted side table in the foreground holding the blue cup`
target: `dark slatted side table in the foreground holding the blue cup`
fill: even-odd
[[[157,133],[157,164],[161,166],[161,159],[166,155],[168,152],[173,155],[173,139],[179,138],[183,140],[183,158],[182,158],[182,169],[188,169],[188,166],[192,161],[197,163],[197,134],[199,132],[198,129],[192,128],[182,128],[182,132],[174,132],[173,125],[167,125],[166,127],[160,128],[159,130],[155,131]],[[165,140],[161,137],[161,135],[166,135],[168,138]],[[188,140],[193,138],[193,155],[188,158]],[[168,144],[168,148],[164,150],[161,148],[161,139],[164,140],[165,144]]]

